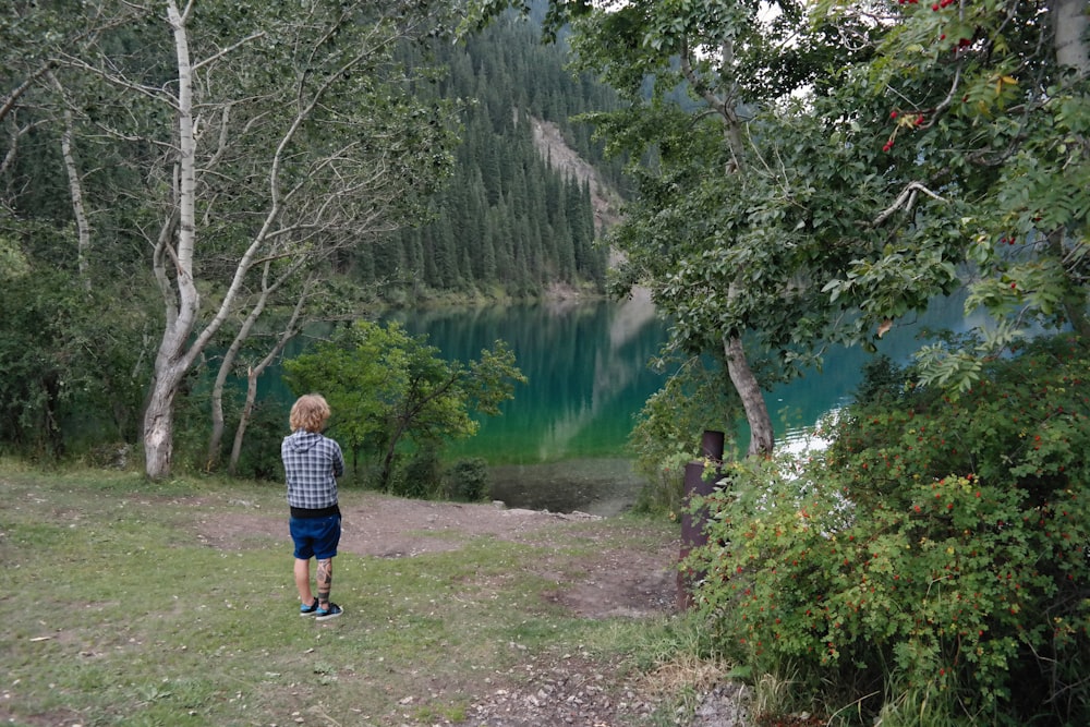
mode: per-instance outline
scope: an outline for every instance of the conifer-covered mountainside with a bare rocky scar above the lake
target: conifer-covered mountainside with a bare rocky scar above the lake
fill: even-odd
[[[621,165],[605,161],[593,130],[571,118],[617,101],[566,69],[562,41],[540,39],[538,20],[511,13],[465,44],[409,51],[412,63],[448,69],[441,96],[468,101],[462,142],[431,221],[359,249],[360,283],[410,305],[601,289],[607,255],[595,233],[616,213]]]

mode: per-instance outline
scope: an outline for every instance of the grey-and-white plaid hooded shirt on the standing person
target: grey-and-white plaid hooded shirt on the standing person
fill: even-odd
[[[337,477],[344,474],[340,445],[317,432],[299,429],[280,445],[288,505],[320,510],[337,505]]]

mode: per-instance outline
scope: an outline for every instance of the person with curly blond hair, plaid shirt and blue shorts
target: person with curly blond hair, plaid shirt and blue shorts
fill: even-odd
[[[329,601],[334,556],[340,543],[341,514],[337,505],[337,477],[344,474],[340,445],[322,434],[329,404],[317,393],[300,397],[291,408],[292,433],[280,445],[291,508],[291,540],[295,544],[295,587],[300,616],[319,621],[343,613]],[[318,562],[318,595],[311,592],[311,558]]]

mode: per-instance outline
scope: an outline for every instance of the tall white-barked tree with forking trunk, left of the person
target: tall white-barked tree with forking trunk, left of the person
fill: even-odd
[[[193,5],[192,0],[154,3],[173,41],[178,75],[169,83],[147,85],[126,75],[125,65],[97,46],[86,54],[58,49],[50,61],[171,111],[167,129],[155,128],[156,116],[136,108],[132,129],[100,126],[121,143],[142,146],[142,159],[148,160],[142,170],[146,208],[161,210],[157,234],[147,235],[164,306],[143,419],[150,478],[171,474],[175,399],[223,327],[240,327],[228,354],[230,369],[258,317],[274,305],[290,305],[274,294],[280,289],[282,295],[283,283],[320,268],[337,251],[392,229],[390,218],[401,214],[399,197],[425,186],[433,173],[427,157],[405,148],[390,131],[403,113],[400,106],[384,107],[389,101],[384,92],[354,83],[356,76],[389,70],[385,62],[401,34],[417,34],[434,20],[428,3],[421,3],[419,14],[362,0],[351,7],[306,5],[287,21],[263,16],[261,29],[239,39],[217,37],[222,27],[215,23],[205,37],[204,26],[195,27],[190,16]],[[125,7],[146,22],[146,7]],[[360,7],[388,10],[390,23],[361,25],[353,10]],[[270,51],[283,73],[255,76],[251,66],[261,51],[245,46],[274,33],[283,35]],[[335,36],[346,43],[331,43]],[[390,73],[398,81],[396,71]],[[368,99],[379,105],[377,111],[367,108]],[[0,101],[7,113],[11,99]],[[331,119],[341,133],[331,131]],[[146,122],[150,129],[142,126]],[[445,143],[441,124],[427,129]],[[161,156],[153,159],[148,150]],[[66,159],[74,161],[74,154]],[[86,233],[89,240],[89,226]],[[255,280],[261,268],[266,277]],[[215,308],[204,310],[202,290],[211,291]],[[217,390],[221,398],[222,381]],[[219,405],[213,416],[218,451]]]

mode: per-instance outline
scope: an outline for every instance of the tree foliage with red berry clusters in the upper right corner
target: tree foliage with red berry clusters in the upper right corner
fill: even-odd
[[[873,290],[896,267],[927,274],[938,259],[972,271],[967,307],[1003,324],[976,349],[930,349],[924,377],[967,388],[981,355],[1032,330],[1070,325],[1090,334],[1088,4],[1033,2],[865,5],[885,29],[874,60],[853,82],[885,108],[864,123],[887,157],[881,169],[904,192],[885,223],[913,235],[913,249],[860,258],[829,283],[834,294]],[[823,3],[831,17],[858,7]],[[913,201],[930,195],[925,211]],[[892,219],[891,219],[892,218]]]

